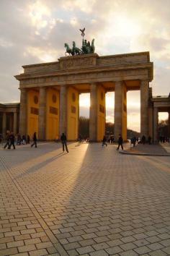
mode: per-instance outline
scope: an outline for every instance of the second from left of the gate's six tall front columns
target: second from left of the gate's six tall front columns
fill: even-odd
[[[38,138],[45,140],[46,127],[46,88],[40,87],[39,114],[38,114]]]

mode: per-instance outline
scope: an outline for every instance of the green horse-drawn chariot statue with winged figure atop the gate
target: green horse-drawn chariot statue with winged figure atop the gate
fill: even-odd
[[[81,36],[83,37],[82,39],[82,46],[81,46],[81,49],[76,47],[76,43],[75,41],[73,41],[73,47],[70,48],[70,46],[68,45],[68,43],[65,43],[64,46],[66,48],[66,55],[80,55],[80,54],[94,54],[94,50],[95,50],[95,47],[94,47],[94,39],[91,41],[91,43],[85,39],[84,40],[84,31],[85,31],[85,27],[84,29],[80,29],[81,31]]]

